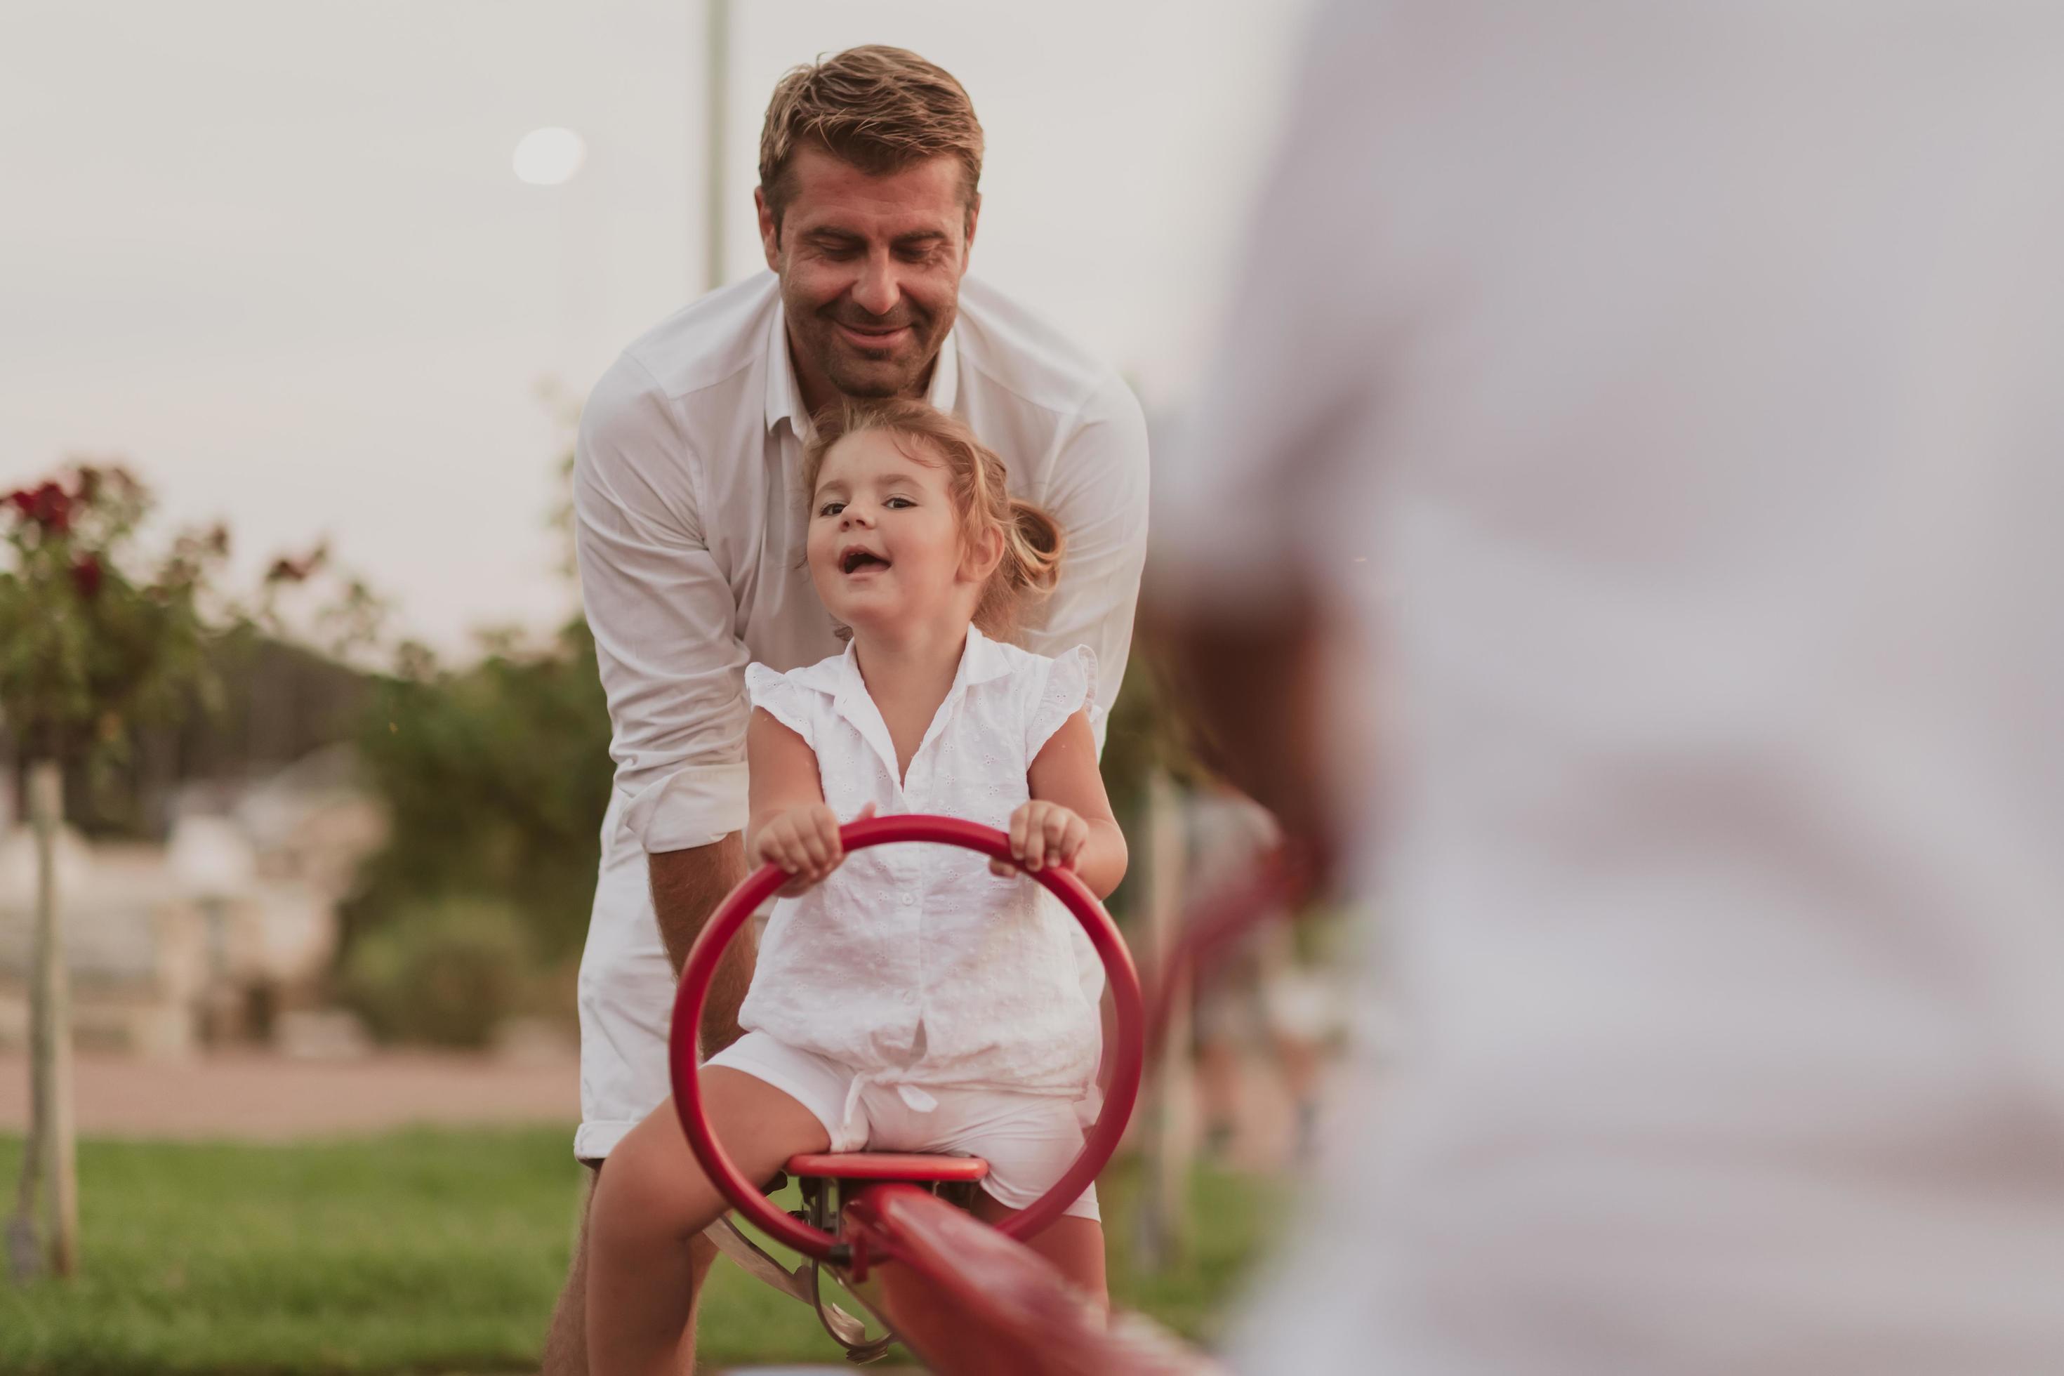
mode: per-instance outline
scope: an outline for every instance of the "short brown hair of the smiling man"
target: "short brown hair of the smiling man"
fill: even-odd
[[[966,202],[982,179],[982,124],[952,72],[906,47],[867,43],[791,68],[760,130],[760,190],[780,227],[793,188],[788,161],[803,142],[879,177],[931,157],[966,169]]]

